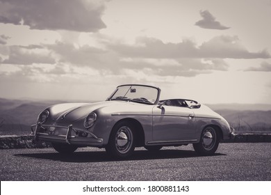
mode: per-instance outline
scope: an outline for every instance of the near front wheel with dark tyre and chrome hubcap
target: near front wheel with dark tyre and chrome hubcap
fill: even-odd
[[[128,157],[135,149],[133,127],[126,122],[117,124],[109,137],[106,152],[117,158]]]

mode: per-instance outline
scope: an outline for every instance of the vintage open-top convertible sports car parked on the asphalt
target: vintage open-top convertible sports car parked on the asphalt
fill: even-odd
[[[199,155],[212,155],[233,128],[195,100],[159,100],[160,88],[117,86],[104,102],[56,104],[44,109],[31,129],[35,140],[49,141],[59,153],[82,146],[106,148],[127,157],[135,147],[159,150],[192,143]]]

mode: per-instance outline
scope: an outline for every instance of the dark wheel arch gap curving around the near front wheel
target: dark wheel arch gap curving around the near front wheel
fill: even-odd
[[[113,128],[110,132],[110,134],[113,132],[113,129],[119,124],[119,123],[122,123],[122,122],[126,122],[126,123],[129,123],[133,126],[133,133],[134,133],[134,136],[135,136],[135,141],[136,141],[136,147],[139,147],[139,146],[144,146],[144,143],[145,143],[145,133],[144,133],[144,130],[143,130],[143,127],[141,125],[141,123],[136,120],[135,118],[122,118],[120,120],[117,120],[117,122],[115,123],[115,125],[113,125]]]

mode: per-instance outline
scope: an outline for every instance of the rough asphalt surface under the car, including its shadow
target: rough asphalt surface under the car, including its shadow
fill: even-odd
[[[271,180],[271,143],[220,143],[213,156],[192,146],[156,153],[138,148],[126,160],[103,149],[60,155],[53,148],[0,150],[0,180]]]

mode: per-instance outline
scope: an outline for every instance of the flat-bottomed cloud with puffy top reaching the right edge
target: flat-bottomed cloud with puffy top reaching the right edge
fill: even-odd
[[[217,36],[199,46],[191,40],[164,43],[155,38],[140,38],[137,43],[137,45],[108,44],[108,47],[122,56],[133,58],[268,59],[271,57],[266,50],[247,51],[237,36]]]

